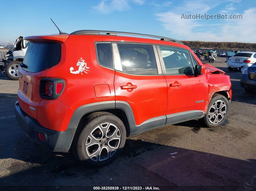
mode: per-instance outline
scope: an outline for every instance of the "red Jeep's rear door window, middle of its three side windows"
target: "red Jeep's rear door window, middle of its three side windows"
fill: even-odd
[[[138,75],[158,74],[152,45],[118,43],[123,72]]]

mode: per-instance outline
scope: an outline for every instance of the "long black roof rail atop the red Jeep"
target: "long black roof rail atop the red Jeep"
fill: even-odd
[[[72,32],[70,34],[100,34],[100,33],[106,33],[107,35],[127,34],[127,35],[147,36],[147,37],[158,38],[158,39],[160,39],[162,41],[167,40],[167,41],[172,41],[172,42],[183,44],[181,41],[178,41],[178,40],[175,40],[175,39],[170,39],[170,38],[163,37],[163,36],[155,36],[155,35],[132,33],[132,32],[80,30],[80,31]]]

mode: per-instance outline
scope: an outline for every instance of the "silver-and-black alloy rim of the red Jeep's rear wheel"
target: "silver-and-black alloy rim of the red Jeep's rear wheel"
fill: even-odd
[[[112,157],[120,146],[121,133],[113,123],[102,123],[88,135],[85,150],[88,157],[95,161],[104,161]]]

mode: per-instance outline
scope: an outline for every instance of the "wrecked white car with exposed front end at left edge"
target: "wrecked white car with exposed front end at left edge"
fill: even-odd
[[[12,80],[19,80],[19,63],[24,59],[28,44],[25,46],[24,38],[19,36],[13,46],[13,50],[9,50],[2,59],[1,70],[5,71],[7,76]]]

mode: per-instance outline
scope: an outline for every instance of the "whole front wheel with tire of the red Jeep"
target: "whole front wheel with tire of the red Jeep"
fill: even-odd
[[[214,110],[216,111],[215,106],[217,107],[216,113],[213,112]],[[218,106],[219,106],[219,109],[218,109]],[[226,106],[226,108],[224,108],[224,106]],[[226,109],[225,113],[224,113],[224,109]],[[229,110],[228,99],[223,95],[214,94],[212,96],[210,104],[208,106],[207,113],[205,114],[205,116],[203,118],[200,119],[200,121],[208,127],[219,126],[227,118],[228,110]],[[218,112],[218,111],[220,111],[220,112]],[[216,118],[216,116],[218,116],[218,117]]]

